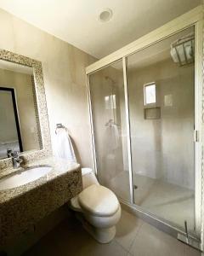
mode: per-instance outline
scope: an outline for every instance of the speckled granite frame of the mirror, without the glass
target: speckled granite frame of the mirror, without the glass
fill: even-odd
[[[20,155],[24,157],[27,163],[45,158],[52,155],[51,137],[49,132],[48,123],[48,108],[44,90],[44,82],[42,75],[42,63],[41,61],[33,60],[24,55],[18,55],[11,51],[0,49],[0,60],[14,62],[16,64],[31,67],[33,70],[34,86],[37,99],[37,123],[38,132],[41,134],[42,141],[39,142],[40,150],[31,150],[21,152]],[[0,172],[4,168],[13,168],[11,158],[5,158],[0,160]]]

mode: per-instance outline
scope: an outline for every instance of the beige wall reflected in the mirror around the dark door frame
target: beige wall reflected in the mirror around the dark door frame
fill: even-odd
[[[40,149],[31,75],[0,69],[0,86],[14,88],[23,150]]]

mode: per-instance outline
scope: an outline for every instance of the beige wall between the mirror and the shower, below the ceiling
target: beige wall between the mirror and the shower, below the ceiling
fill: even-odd
[[[93,166],[85,67],[95,59],[0,9],[0,48],[42,61],[54,148],[56,123],[68,127],[82,166]],[[80,156],[79,156],[80,155]]]

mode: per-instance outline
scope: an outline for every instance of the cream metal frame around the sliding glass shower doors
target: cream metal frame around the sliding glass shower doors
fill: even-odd
[[[156,44],[161,40],[172,36],[173,34],[183,31],[184,29],[195,26],[195,131],[198,131],[198,141],[195,142],[195,235],[201,237],[201,247],[204,248],[204,152],[203,152],[203,132],[204,132],[204,96],[203,96],[203,5],[190,10],[188,13],[179,16],[178,18],[168,22],[146,34],[144,37],[137,39],[131,44],[116,52],[94,62],[86,68],[87,75],[87,89],[88,89],[88,110],[91,125],[92,148],[94,155],[94,170],[97,173],[97,159],[96,149],[94,143],[94,123],[92,114],[92,102],[90,96],[89,79],[88,76],[92,73],[108,67],[116,61],[122,60],[123,79],[124,79],[124,94],[125,94],[125,108],[126,108],[126,122],[127,122],[127,153],[129,165],[129,182],[130,182],[130,202],[122,201],[127,206],[134,208],[136,212],[142,213],[145,216],[152,218],[164,224],[173,230],[184,232],[180,230],[176,224],[170,224],[168,221],[155,216],[150,212],[146,212],[142,207],[133,203],[133,172],[132,172],[132,156],[131,156],[131,138],[130,138],[130,124],[129,124],[129,110],[128,110],[128,94],[127,94],[127,56],[133,55],[137,51],[149,47],[151,44]]]

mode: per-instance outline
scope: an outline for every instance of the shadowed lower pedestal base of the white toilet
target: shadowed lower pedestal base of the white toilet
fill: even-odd
[[[89,224],[88,221],[83,218],[82,213],[76,212],[76,216],[77,219],[81,221],[83,228],[87,230],[96,241],[99,241],[99,243],[109,243],[116,236],[116,226],[106,229],[99,229]]]

